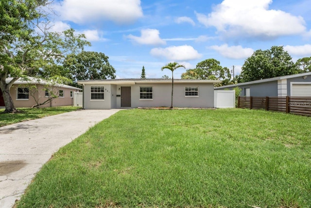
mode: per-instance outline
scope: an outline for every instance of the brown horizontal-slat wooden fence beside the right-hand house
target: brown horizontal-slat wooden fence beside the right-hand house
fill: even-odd
[[[241,97],[238,108],[265,109],[311,116],[311,97]]]

